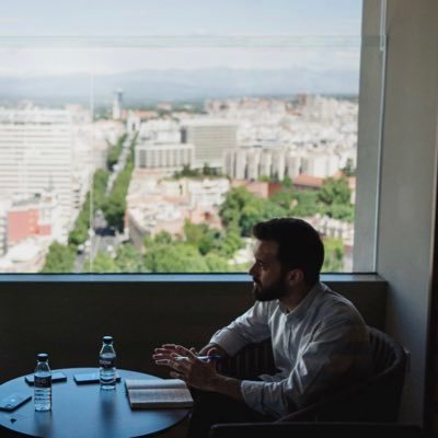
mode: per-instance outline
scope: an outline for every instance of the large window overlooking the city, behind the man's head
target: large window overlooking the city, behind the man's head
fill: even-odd
[[[244,272],[276,216],[353,270],[361,1],[19,3],[0,273]]]

